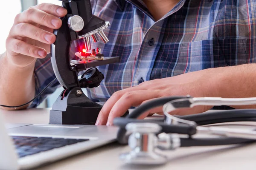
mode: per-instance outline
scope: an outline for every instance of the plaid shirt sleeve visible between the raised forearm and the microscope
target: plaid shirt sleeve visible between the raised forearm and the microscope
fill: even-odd
[[[47,54],[47,57],[44,59],[37,59],[35,62],[34,69],[34,77],[35,77],[35,96],[37,96],[44,88],[54,80],[55,74],[52,68],[51,56]],[[38,96],[29,108],[37,107],[44,99],[47,98],[50,94],[52,94],[57,88],[61,87],[58,80],[55,80],[52,85],[50,85],[43,94]]]

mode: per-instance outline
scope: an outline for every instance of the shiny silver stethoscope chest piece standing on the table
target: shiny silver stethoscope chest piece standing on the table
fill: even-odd
[[[161,135],[160,139],[157,137],[157,133],[162,129],[161,126],[155,123],[129,123],[125,128],[132,133],[128,139],[131,151],[120,155],[122,161],[128,164],[165,164],[167,162],[166,156],[156,152],[159,143],[165,143],[164,146],[167,148],[172,145],[168,137],[164,135]]]

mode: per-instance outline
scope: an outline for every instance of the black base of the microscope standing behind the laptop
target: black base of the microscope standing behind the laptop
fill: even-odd
[[[93,102],[84,93],[77,94],[81,88],[76,87],[61,95],[52,105],[49,124],[55,125],[95,125],[99,111],[104,102]],[[127,111],[123,116],[129,114]]]

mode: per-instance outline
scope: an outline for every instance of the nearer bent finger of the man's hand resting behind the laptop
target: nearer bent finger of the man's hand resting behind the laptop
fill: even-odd
[[[159,91],[140,90],[125,93],[111,109],[107,125],[113,125],[113,119],[122,116],[131,106],[138,106],[145,100],[157,97],[160,97]]]

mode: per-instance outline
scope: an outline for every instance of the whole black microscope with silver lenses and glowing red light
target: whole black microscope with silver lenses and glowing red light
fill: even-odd
[[[104,57],[99,48],[91,49],[91,40],[108,42],[104,29],[110,23],[92,14],[90,0],[61,1],[67,9],[67,15],[61,18],[61,28],[53,32],[56,40],[51,45],[51,62],[55,76],[64,90],[52,105],[49,123],[94,125],[102,104],[90,100],[81,88],[98,87],[104,75],[96,66],[120,62],[120,58]],[[85,49],[79,52],[82,54],[79,60],[71,60],[70,45],[76,40],[83,40]],[[88,54],[90,50],[93,52]],[[80,71],[85,72],[79,79]]]

